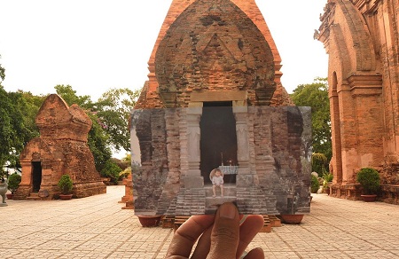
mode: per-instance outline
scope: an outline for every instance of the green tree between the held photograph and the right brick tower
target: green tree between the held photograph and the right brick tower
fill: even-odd
[[[312,111],[312,146],[314,153],[332,158],[330,102],[327,78],[316,78],[309,84],[300,84],[290,95],[296,106],[310,106]]]

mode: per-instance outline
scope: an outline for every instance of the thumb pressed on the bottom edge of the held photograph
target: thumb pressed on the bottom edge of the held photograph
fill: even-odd
[[[239,247],[239,211],[231,202],[217,210],[207,258],[236,258]]]

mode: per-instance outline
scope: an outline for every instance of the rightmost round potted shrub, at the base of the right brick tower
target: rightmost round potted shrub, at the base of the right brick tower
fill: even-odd
[[[372,168],[363,168],[356,175],[356,181],[362,186],[364,201],[374,201],[379,192],[379,172]]]

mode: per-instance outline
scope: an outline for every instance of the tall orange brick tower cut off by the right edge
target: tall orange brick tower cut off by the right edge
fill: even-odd
[[[398,8],[395,0],[329,0],[321,16],[317,38],[329,55],[333,196],[359,199],[356,172],[363,167],[379,169],[382,184],[399,183]],[[384,187],[381,200],[397,204],[397,191],[384,190],[393,189]]]

